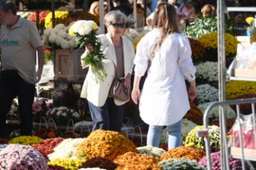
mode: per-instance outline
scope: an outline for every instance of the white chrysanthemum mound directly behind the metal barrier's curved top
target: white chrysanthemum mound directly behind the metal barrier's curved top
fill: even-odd
[[[202,111],[202,113],[204,113],[206,111],[206,108],[210,105],[209,103],[201,103],[198,105],[198,108]],[[230,108],[230,106],[227,106],[227,112],[225,113],[227,115],[227,118],[236,118],[236,113],[235,111]],[[219,108],[218,107],[214,107],[213,109],[211,109],[210,111],[210,115],[209,118],[211,120],[219,120]]]

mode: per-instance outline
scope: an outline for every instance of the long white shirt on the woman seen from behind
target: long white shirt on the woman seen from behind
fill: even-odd
[[[137,45],[134,59],[135,76],[146,72],[149,54],[159,40],[161,30],[154,28]],[[142,120],[149,125],[171,125],[181,120],[190,109],[184,76],[195,79],[191,46],[185,35],[169,35],[156,50],[148,69],[139,101]]]

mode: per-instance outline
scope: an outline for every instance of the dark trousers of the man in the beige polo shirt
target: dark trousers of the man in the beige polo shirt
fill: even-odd
[[[6,115],[9,113],[14,98],[18,96],[18,110],[21,115],[21,135],[32,135],[32,105],[35,95],[35,84],[28,84],[18,76],[0,77],[0,137],[6,137]]]

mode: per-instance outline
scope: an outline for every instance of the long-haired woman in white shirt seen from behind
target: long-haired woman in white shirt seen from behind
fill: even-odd
[[[140,116],[149,124],[147,145],[159,147],[161,130],[166,125],[168,147],[172,149],[181,145],[182,118],[190,109],[188,98],[193,101],[196,97],[196,68],[188,38],[179,33],[174,6],[159,3],[152,26],[153,30],[137,45],[132,99],[139,101]],[[141,94],[139,81],[150,59]],[[188,91],[184,77],[190,81]]]

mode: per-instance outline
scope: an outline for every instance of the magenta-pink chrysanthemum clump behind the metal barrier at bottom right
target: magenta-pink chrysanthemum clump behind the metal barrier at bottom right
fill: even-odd
[[[220,152],[213,152],[210,154],[210,161],[211,161],[211,169],[220,170],[221,169],[221,157]],[[203,157],[200,159],[198,164],[207,167],[207,158]],[[229,159],[230,169],[240,169],[242,170],[242,162],[240,159]],[[245,164],[246,169],[250,169],[248,164]]]

